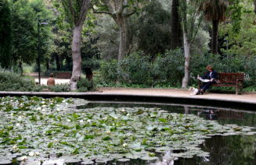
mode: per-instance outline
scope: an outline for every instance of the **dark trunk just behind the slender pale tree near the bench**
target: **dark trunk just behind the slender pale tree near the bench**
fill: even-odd
[[[182,45],[182,29],[178,16],[178,0],[172,0],[171,5],[171,50]]]

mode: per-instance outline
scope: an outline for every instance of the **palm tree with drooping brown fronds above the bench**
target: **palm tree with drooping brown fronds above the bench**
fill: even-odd
[[[224,0],[207,0],[200,5],[199,11],[204,12],[204,17],[212,23],[211,52],[218,53],[218,24],[225,20],[227,2]]]

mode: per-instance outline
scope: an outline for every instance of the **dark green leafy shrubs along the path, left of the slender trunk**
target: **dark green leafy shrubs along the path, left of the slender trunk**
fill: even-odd
[[[181,50],[166,51],[163,55],[159,54],[155,61],[150,61],[150,55],[137,52],[119,63],[115,60],[102,63],[100,72],[106,86],[117,80],[131,87],[180,86],[183,57]]]

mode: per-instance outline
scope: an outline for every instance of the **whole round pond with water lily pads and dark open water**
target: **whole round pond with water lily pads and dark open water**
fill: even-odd
[[[0,97],[0,164],[255,164],[253,111]]]

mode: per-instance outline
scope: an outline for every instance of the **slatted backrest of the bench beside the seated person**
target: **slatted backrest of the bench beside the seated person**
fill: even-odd
[[[243,73],[218,72],[218,80],[222,83],[236,83],[236,80],[243,81]]]

